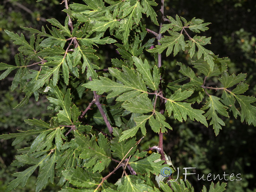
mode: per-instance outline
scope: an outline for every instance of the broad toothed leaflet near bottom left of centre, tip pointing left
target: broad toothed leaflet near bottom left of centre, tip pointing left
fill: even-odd
[[[89,188],[98,184],[98,182],[91,177],[90,174],[93,174],[92,172],[84,171],[84,169],[79,167],[76,167],[76,169],[69,168],[68,170],[62,171],[62,174],[66,180],[77,187]]]

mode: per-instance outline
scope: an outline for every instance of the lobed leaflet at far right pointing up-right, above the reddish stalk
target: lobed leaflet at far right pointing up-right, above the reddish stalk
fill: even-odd
[[[224,71],[221,75],[220,83],[224,85],[225,88],[232,87],[235,84],[240,83],[241,81],[244,81],[246,77],[246,74],[240,73],[237,76],[235,74],[232,74],[231,76],[228,75],[228,72]]]

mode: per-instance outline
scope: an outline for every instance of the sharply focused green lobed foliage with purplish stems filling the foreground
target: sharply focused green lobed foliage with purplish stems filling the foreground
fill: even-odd
[[[162,168],[170,166],[174,171],[170,164],[164,164],[162,136],[168,129],[172,130],[166,117],[173,116],[179,122],[187,121],[189,117],[206,127],[208,120],[216,135],[222,129],[221,125],[225,125],[222,116],[228,117],[231,113],[235,117],[241,116],[242,122],[245,120],[255,126],[256,108],[251,105],[255,98],[241,95],[248,89],[243,83],[246,75],[229,76],[226,71],[228,59],[218,58],[204,48],[210,44],[210,37],[190,37],[187,28],[192,33],[208,29],[205,26],[209,23],[203,23],[203,20],[193,18],[188,22],[178,15],[175,19],[164,19],[162,14],[161,20],[168,24],[161,24],[157,34],[142,24],[142,18],[146,16],[158,25],[154,0],[84,2],[68,7],[65,0],[64,11],[68,16],[64,25],[56,19],[48,19],[52,28],[47,27],[47,30],[22,27],[33,34],[29,42],[23,34],[19,36],[5,31],[15,44],[20,45],[20,53],[15,56],[16,65],[0,63],[0,70],[5,70],[0,79],[17,70],[12,90],[20,85],[26,93],[16,108],[27,104],[32,94],[36,101],[40,94],[46,94],[50,102],[48,109],[56,114],[50,122],[25,120],[35,129],[0,136],[1,139],[15,138],[12,145],[16,145],[28,136],[37,135],[30,147],[19,150],[21,155],[12,163],[17,167],[31,166],[14,173],[17,178],[10,182],[6,191],[15,189],[20,183],[24,187],[37,168],[36,191],[44,188],[48,181],[53,183],[54,177],[60,178],[57,185],[62,186],[63,192],[81,191],[81,188],[84,191],[97,191],[98,188],[102,191],[194,191],[188,182],[186,187],[182,181],[164,184],[156,180]],[[158,45],[154,49],[149,49],[155,39],[145,38],[147,31],[156,35]],[[161,38],[163,33],[167,35]],[[113,58],[115,68],[103,69],[106,72],[103,76],[97,73],[101,70],[99,66],[93,64],[93,60],[99,59],[95,53],[95,46],[99,44],[115,44],[122,57],[121,60]],[[172,52],[175,56],[186,47],[191,58],[197,50],[197,60],[192,64],[200,76],[192,68],[177,62],[179,72],[185,77],[164,82],[161,60],[158,59],[152,67],[147,59],[140,58],[146,51],[161,58],[166,49],[166,56]],[[38,70],[28,69],[35,65],[39,66]],[[207,78],[215,76],[220,76],[223,86],[205,86]],[[81,109],[72,104],[72,98],[85,97],[88,89],[93,91],[93,98],[81,114]],[[222,95],[211,95],[206,91],[208,89],[220,90]],[[102,96],[106,96],[105,99]],[[196,102],[201,107],[194,107]],[[97,112],[88,115],[94,104]],[[165,110],[168,115],[164,114]],[[86,121],[91,116],[93,127]],[[102,124],[105,124],[103,128]],[[146,125],[149,126],[146,128]],[[93,130],[100,133],[93,135]],[[136,135],[147,136],[147,131],[151,130],[159,134],[159,145],[149,148],[157,152],[147,156],[147,151],[136,150],[143,139],[135,140]],[[112,162],[118,164],[106,174],[105,170],[111,169]],[[115,184],[109,183],[107,179],[120,167],[125,176],[120,176]],[[224,191],[225,186],[223,183],[213,188],[212,183],[210,191]],[[205,187],[203,192],[206,192]]]

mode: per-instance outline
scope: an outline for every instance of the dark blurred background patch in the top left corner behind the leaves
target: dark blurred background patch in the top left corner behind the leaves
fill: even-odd
[[[57,0],[44,0],[41,4],[34,3],[33,0],[24,0],[22,4],[18,0],[4,1],[0,5],[0,59],[11,63],[17,53],[16,45],[12,44],[4,29],[20,34],[20,26],[41,28],[46,21],[44,17],[56,17],[57,12],[49,12],[49,7],[56,10],[58,4]],[[24,35],[29,36],[29,33],[25,32]]]

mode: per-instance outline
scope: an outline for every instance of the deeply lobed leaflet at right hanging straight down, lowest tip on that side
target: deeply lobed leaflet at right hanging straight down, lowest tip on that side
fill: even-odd
[[[215,135],[218,135],[220,129],[222,129],[220,125],[225,126],[225,123],[220,119],[220,117],[218,117],[216,112],[218,112],[220,115],[228,117],[227,107],[224,106],[219,100],[220,98],[210,95],[203,108],[201,108],[204,111],[209,109],[204,116],[207,117],[207,120],[212,119],[210,125],[213,124]]]

